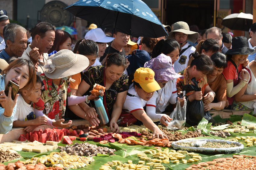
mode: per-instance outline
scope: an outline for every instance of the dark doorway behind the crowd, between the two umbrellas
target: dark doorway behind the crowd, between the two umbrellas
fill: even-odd
[[[166,22],[178,21],[189,26],[197,25],[200,30],[213,26],[214,0],[167,0]]]

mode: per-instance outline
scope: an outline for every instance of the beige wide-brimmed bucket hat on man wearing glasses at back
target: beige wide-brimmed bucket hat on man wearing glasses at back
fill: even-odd
[[[188,41],[195,43],[199,37],[199,33],[190,31],[189,26],[186,22],[179,21],[173,24],[173,31],[169,33],[169,39],[174,39],[173,33],[180,32],[184,34],[188,34]]]

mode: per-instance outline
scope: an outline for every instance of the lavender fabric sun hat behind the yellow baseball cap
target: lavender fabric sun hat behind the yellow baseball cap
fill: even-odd
[[[180,74],[174,71],[171,57],[164,54],[160,54],[156,58],[146,62],[144,67],[148,67],[155,72],[155,80],[158,83],[181,77]]]

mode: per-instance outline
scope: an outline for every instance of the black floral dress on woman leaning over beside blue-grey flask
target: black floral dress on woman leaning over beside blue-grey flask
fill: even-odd
[[[91,90],[93,88],[93,85],[99,84],[104,86],[104,80],[103,80],[103,70],[105,66],[96,66],[96,67],[90,67],[86,72],[84,72],[83,79],[84,81],[90,85],[90,89],[85,92],[84,95],[90,95]],[[105,97],[106,97],[106,104],[108,108],[109,116],[111,117],[111,112],[113,105],[116,102],[117,93],[127,91],[129,87],[128,78],[125,74],[121,76],[118,80],[116,80],[111,87],[106,90]],[[95,104],[93,101],[90,101],[88,104],[90,107],[95,107]]]

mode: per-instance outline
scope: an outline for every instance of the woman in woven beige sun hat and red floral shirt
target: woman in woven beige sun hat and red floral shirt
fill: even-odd
[[[41,99],[34,104],[37,110],[43,111],[50,119],[64,122],[65,107],[88,102],[95,99],[90,96],[73,96],[69,88],[69,81],[75,75],[89,65],[89,60],[84,55],[74,54],[72,51],[63,49],[51,55],[44,65],[44,73],[40,75],[42,80]],[[77,115],[89,120],[86,115]],[[69,121],[69,123],[72,121]],[[70,123],[71,124],[71,123]]]

